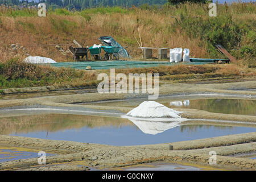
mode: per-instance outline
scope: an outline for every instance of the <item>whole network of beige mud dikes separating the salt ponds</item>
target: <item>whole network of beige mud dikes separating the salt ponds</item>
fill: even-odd
[[[184,84],[168,82],[159,86],[159,97],[168,98],[239,98],[256,100],[256,81],[229,82],[225,84]],[[248,89],[249,91],[246,91]],[[251,91],[253,90],[253,91]],[[0,118],[40,113],[65,113],[120,117],[133,107],[94,105],[96,101],[147,100],[147,94],[76,93],[61,96],[42,96],[0,100]],[[11,97],[9,97],[11,98]],[[256,127],[254,115],[209,113],[196,109],[183,111],[181,117],[188,123],[225,126]],[[200,120],[201,119],[201,120]],[[173,146],[170,150],[169,146]],[[119,169],[151,162],[170,162],[197,166],[201,169],[255,170],[255,159],[241,158],[241,154],[256,154],[256,132],[223,137],[189,140],[183,142],[141,146],[109,146],[104,144],[68,142],[27,137],[0,135],[1,147],[26,148],[27,151],[54,151],[47,156],[46,165],[38,158],[0,163],[1,170],[89,170]],[[209,151],[216,151],[217,164],[210,165]]]

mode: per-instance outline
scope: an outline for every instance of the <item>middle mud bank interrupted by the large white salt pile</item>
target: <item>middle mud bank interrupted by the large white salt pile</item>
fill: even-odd
[[[6,107],[5,109],[0,109],[0,118],[34,114],[78,114],[121,117],[121,115],[125,115],[132,109],[133,107],[74,105],[48,102],[48,105]],[[175,110],[183,112],[181,113],[181,117],[190,119],[187,121],[187,124],[217,123],[226,126],[256,127],[256,118],[253,115],[210,113],[196,109],[176,108]]]

